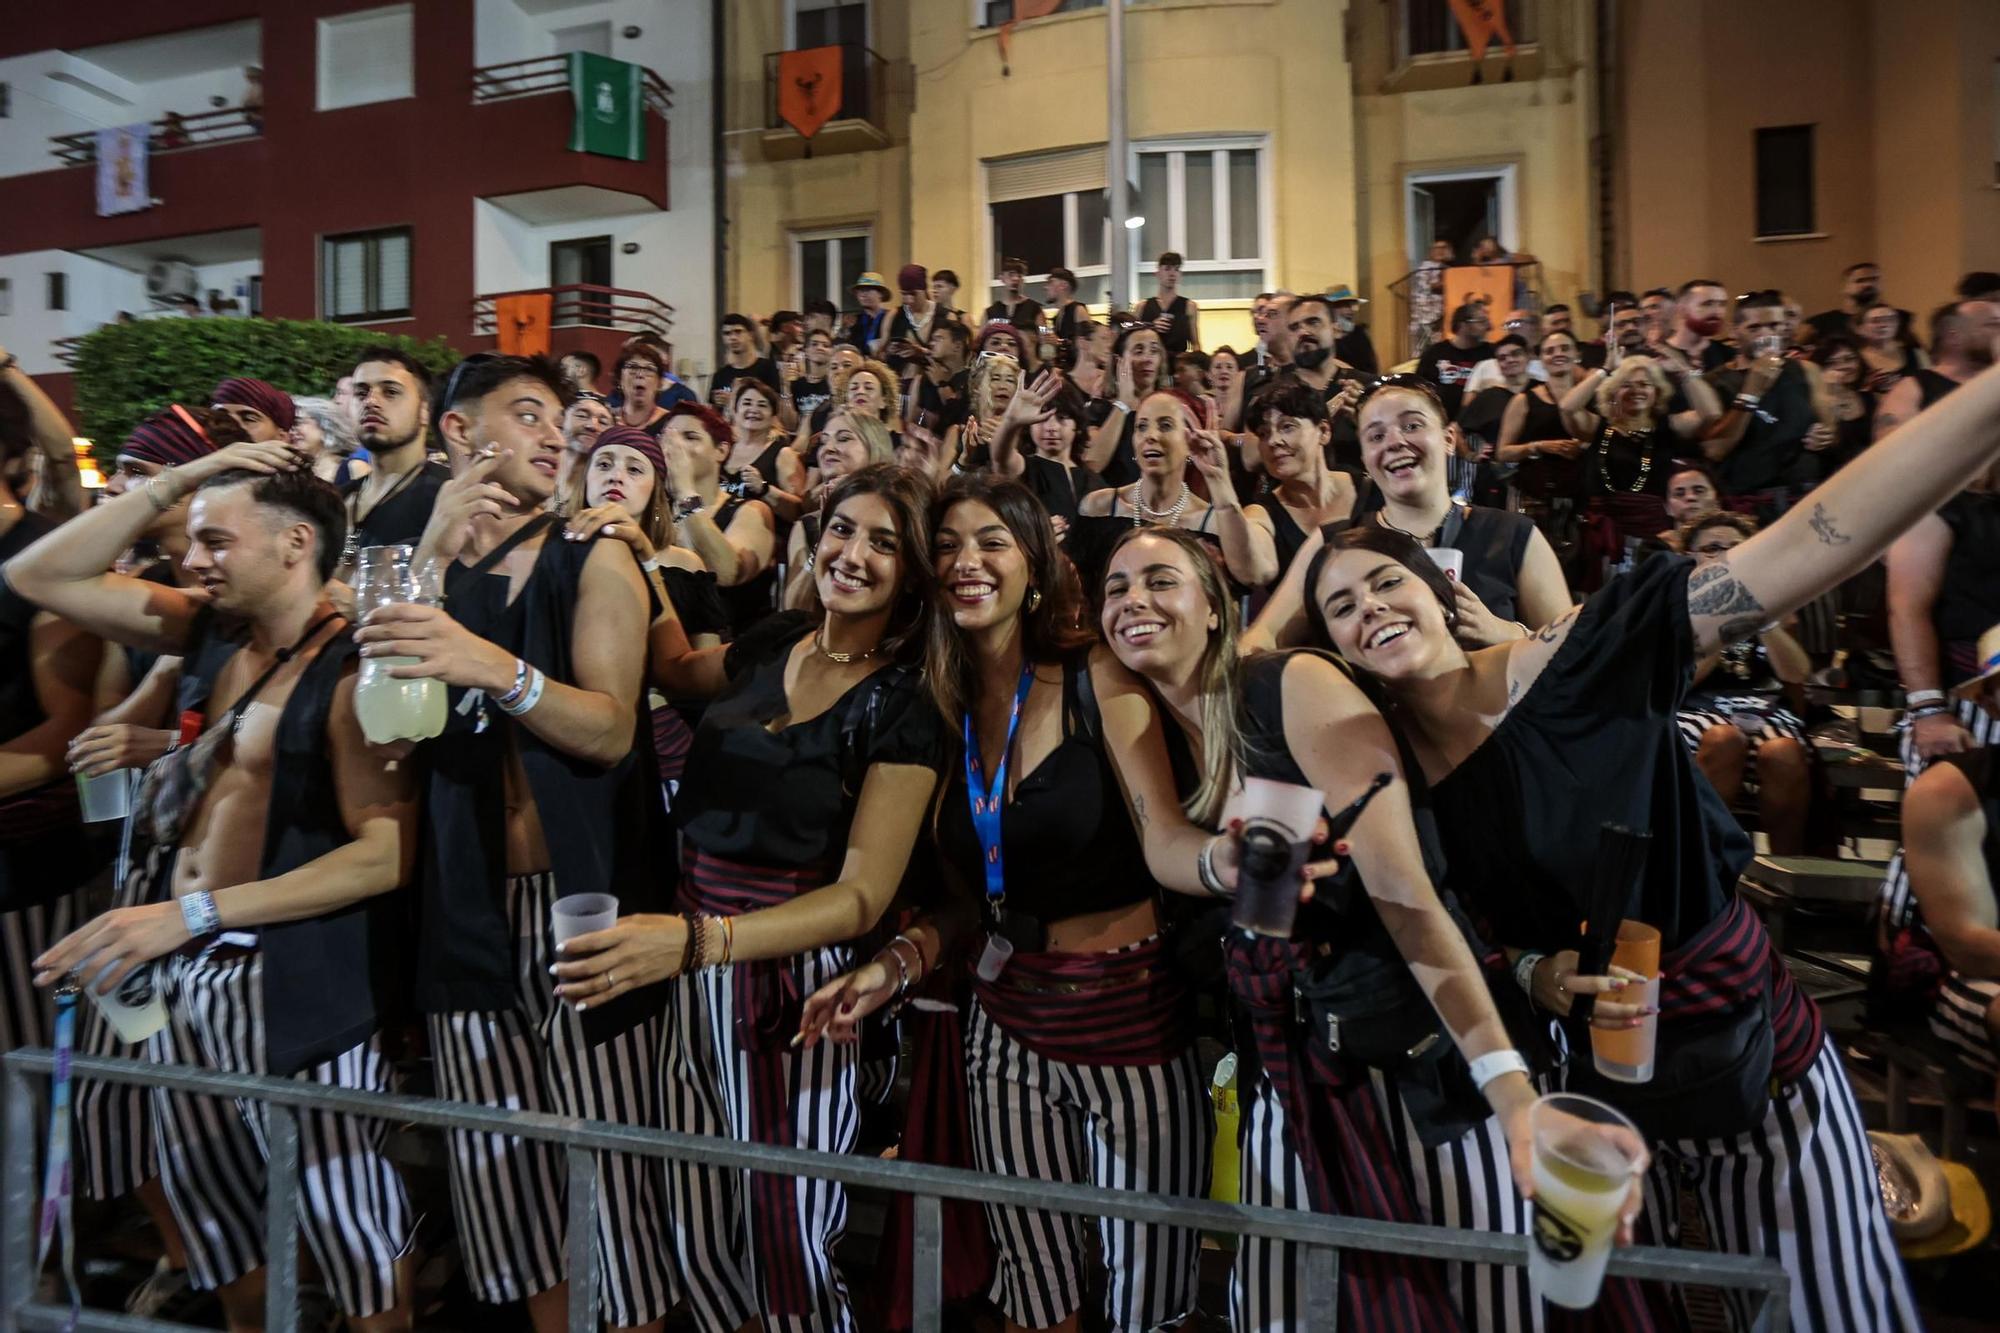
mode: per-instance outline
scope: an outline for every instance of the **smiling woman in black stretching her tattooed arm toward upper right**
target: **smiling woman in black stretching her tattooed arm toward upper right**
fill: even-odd
[[[1406,398],[1378,390],[1364,430]],[[1520,951],[1534,1001],[1568,1017],[1576,995],[1622,989],[1578,975],[1586,919],[1662,933],[1654,1081],[1574,1061],[1568,1083],[1652,1135],[1650,1235],[1678,1237],[1688,1191],[1716,1245],[1792,1271],[1800,1329],[1914,1329],[1916,1311],[1838,1051],[1736,897],[1748,839],[1674,715],[1702,654],[1838,586],[1990,466],[1996,424],[2000,370],[1986,370],[1718,560],[1648,560],[1494,648],[1454,638],[1434,566],[1394,532],[1356,530],[1308,574],[1322,642],[1378,683],[1430,781],[1450,887]],[[1650,833],[1628,895],[1598,883],[1606,825]],[[1572,1049],[1586,1039],[1570,1019]]]

